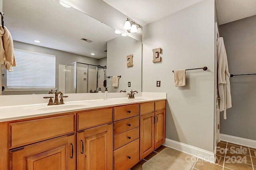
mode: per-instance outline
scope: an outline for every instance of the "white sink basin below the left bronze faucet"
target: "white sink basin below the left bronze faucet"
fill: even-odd
[[[90,106],[90,103],[65,103],[60,105],[37,105],[37,106],[30,106],[26,107],[25,109],[34,109],[34,110],[40,110],[40,111],[53,111],[53,110],[59,110],[59,109],[74,109],[74,108],[80,108],[80,107],[86,107]]]

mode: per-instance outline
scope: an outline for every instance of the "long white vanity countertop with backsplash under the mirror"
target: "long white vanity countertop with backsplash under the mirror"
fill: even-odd
[[[65,104],[47,106],[48,100],[43,99],[46,95],[14,95],[0,96],[0,102],[5,106],[0,107],[0,122],[39,117],[45,115],[54,115],[71,111],[81,111],[86,109],[95,109],[100,107],[110,107],[141,102],[150,102],[154,100],[166,99],[166,93],[140,92],[134,99],[128,99],[127,95],[122,93],[109,93],[109,99],[103,100],[104,94],[64,94],[70,98],[64,98]],[[124,98],[123,96],[126,97]],[[50,95],[52,96],[52,95]],[[117,97],[117,98],[115,98]],[[84,100],[86,98],[87,100]],[[77,100],[76,100],[77,99]],[[89,100],[88,100],[89,99]],[[9,101],[6,101],[9,100]],[[17,100],[21,100],[20,103]],[[36,104],[32,104],[32,102]],[[15,103],[13,103],[15,101]],[[32,101],[32,102],[28,102]],[[40,103],[40,101],[43,101]],[[45,103],[46,102],[46,103]],[[10,104],[11,103],[11,104]]]

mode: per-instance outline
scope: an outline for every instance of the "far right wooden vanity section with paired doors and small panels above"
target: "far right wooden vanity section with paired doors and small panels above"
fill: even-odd
[[[166,101],[140,104],[140,160],[165,142]]]

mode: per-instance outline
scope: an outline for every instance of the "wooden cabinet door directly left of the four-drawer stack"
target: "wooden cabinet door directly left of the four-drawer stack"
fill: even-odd
[[[77,133],[78,170],[112,170],[113,124]]]

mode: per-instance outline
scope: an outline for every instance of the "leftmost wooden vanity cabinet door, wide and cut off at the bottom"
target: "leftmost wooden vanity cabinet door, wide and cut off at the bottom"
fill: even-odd
[[[75,170],[74,134],[10,150],[12,170]]]

